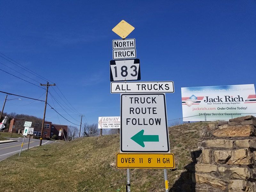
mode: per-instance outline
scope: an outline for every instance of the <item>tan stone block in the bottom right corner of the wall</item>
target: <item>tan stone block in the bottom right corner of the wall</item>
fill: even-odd
[[[229,192],[255,192],[256,186],[255,182],[249,182],[245,180],[231,180],[228,185]]]

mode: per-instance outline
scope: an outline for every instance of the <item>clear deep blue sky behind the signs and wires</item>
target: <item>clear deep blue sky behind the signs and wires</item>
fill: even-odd
[[[112,40],[120,38],[111,29],[124,19],[135,27],[127,38],[136,39],[141,81],[174,81],[175,93],[166,94],[167,116],[174,119],[182,117],[181,87],[255,84],[255,8],[253,0],[1,1],[0,52],[56,83],[85,115],[84,122],[97,123],[98,116],[120,115],[120,94],[110,93],[109,60]],[[3,58],[0,62],[46,84]],[[44,100],[43,89],[0,75],[0,91],[33,98],[43,94]],[[64,104],[52,87],[49,91]],[[0,102],[4,97],[1,93]],[[42,117],[44,103],[31,102],[8,101],[4,111]],[[70,117],[51,96],[48,102],[79,124],[79,114],[64,108]],[[70,124],[59,118],[47,108],[47,121]]]

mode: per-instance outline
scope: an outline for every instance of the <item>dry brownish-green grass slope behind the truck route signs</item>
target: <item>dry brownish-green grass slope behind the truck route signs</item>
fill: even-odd
[[[169,128],[170,148],[177,170],[168,170],[170,191],[191,162],[190,151],[208,123]],[[119,152],[119,135],[79,138],[32,148],[0,162],[0,189],[4,192],[125,192],[126,169],[110,166]],[[131,169],[131,190],[164,191],[162,169]],[[176,185],[177,186],[177,183]]]

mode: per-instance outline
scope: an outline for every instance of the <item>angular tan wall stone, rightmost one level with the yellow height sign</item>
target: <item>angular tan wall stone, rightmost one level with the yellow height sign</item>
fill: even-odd
[[[248,148],[237,149],[232,151],[231,158],[228,160],[227,164],[246,164],[250,165],[254,163],[254,159],[251,151]]]

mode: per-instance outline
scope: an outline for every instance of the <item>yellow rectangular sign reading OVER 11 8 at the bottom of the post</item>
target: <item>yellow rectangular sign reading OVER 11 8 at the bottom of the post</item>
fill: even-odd
[[[116,168],[174,169],[172,153],[117,153]]]

